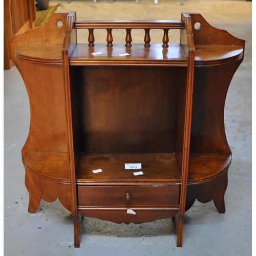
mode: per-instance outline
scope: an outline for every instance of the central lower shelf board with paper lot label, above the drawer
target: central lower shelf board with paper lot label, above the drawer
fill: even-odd
[[[125,163],[141,163],[141,169],[125,169]],[[95,169],[102,172],[94,174]],[[134,172],[143,172],[135,176]],[[93,184],[180,184],[181,177],[174,154],[84,154],[77,174],[78,185]]]

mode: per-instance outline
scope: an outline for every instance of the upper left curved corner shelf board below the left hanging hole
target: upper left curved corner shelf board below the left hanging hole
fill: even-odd
[[[61,64],[61,45],[56,46],[16,46],[15,57],[33,63]]]

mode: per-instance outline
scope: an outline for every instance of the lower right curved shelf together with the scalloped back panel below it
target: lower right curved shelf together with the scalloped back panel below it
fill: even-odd
[[[190,154],[186,210],[196,201],[207,203],[211,200],[220,213],[226,211],[225,191],[231,154]]]

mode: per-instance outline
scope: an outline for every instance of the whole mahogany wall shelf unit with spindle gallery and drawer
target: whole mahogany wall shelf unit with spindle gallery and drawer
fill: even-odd
[[[89,31],[87,43],[77,43],[78,29]],[[95,42],[95,29],[105,29],[106,44]],[[113,29],[126,31],[123,44],[113,44]],[[144,30],[143,44],[133,44],[134,29]],[[153,29],[163,31],[158,44]],[[173,29],[178,45],[168,44]],[[22,149],[29,212],[58,198],[72,212],[75,247],[80,215],[126,224],[175,217],[180,247],[196,199],[225,212],[224,106],[244,40],[199,13],[76,20],[75,12],[56,12],[11,44],[30,100]]]

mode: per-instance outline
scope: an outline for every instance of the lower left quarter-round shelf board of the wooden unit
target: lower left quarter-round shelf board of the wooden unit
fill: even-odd
[[[68,153],[26,152],[24,165],[42,179],[70,183]]]

